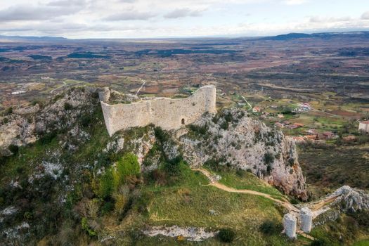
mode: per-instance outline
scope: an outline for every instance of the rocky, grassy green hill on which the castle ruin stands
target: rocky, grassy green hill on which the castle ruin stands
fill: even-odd
[[[3,242],[172,245],[205,240],[214,245],[231,231],[239,245],[310,243],[280,234],[287,212],[281,202],[309,198],[296,146],[280,131],[233,108],[205,114],[180,130],[148,125],[110,137],[98,91],[73,87],[48,103],[13,108],[0,118]],[[212,180],[198,168],[230,190],[255,194],[209,186]],[[365,194],[354,191],[346,189],[349,200],[339,200],[345,209],[332,213],[347,212],[347,204],[354,204],[355,212],[368,207]],[[339,222],[331,217],[321,221],[349,230],[346,216]],[[365,235],[364,222],[356,222],[356,231],[343,240]],[[314,237],[325,240],[322,233],[329,228],[314,230]]]

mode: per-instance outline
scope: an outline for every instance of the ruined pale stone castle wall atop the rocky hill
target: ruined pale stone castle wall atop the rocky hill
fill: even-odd
[[[105,125],[110,136],[129,127],[155,124],[162,129],[179,129],[205,112],[215,113],[215,86],[202,86],[188,98],[155,98],[130,104],[110,105],[101,101]]]

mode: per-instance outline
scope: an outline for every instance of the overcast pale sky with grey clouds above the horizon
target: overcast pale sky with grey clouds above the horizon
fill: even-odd
[[[369,0],[0,0],[0,34],[238,37],[369,30]]]

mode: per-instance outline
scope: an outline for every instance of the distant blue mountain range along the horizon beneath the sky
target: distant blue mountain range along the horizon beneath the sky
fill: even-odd
[[[321,38],[321,39],[332,39],[336,37],[351,37],[351,38],[369,38],[369,32],[320,32],[313,34],[306,33],[296,33],[292,32],[289,34],[281,34],[277,36],[270,37],[255,37],[247,39],[257,39],[257,40],[291,40],[291,39],[306,39],[306,38]],[[32,37],[32,36],[5,36],[0,35],[0,40],[6,39],[11,41],[92,41],[92,40],[109,40],[109,39],[67,39],[65,37]],[[190,39],[190,38],[189,38]]]

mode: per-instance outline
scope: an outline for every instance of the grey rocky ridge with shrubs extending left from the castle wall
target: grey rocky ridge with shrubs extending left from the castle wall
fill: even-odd
[[[0,121],[0,156],[11,155],[10,145],[27,145],[52,131],[73,127],[98,105],[98,89],[72,88],[44,108],[39,104],[16,108]]]

